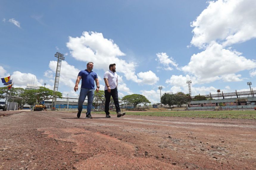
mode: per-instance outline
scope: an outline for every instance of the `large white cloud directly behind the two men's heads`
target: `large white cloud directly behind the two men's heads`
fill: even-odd
[[[109,70],[109,64],[116,64],[116,71],[124,74],[127,80],[134,82],[149,82],[147,77],[139,79],[135,73],[136,64],[127,62],[119,57],[125,54],[119,49],[112,39],[106,39],[102,33],[83,32],[80,37],[69,37],[67,42],[71,56],[79,61],[93,62],[97,69]],[[151,71],[150,71],[151,72]],[[145,72],[148,74],[148,72]],[[153,75],[154,76],[154,75]],[[152,82],[149,82],[152,84]]]

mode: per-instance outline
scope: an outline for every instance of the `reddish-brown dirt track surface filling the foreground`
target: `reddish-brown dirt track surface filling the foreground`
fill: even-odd
[[[0,115],[0,169],[256,169],[255,120]]]

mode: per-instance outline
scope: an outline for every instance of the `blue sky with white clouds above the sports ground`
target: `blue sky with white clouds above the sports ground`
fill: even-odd
[[[256,90],[255,9],[254,0],[0,1],[0,76],[53,89],[60,52],[63,96],[78,96],[75,80],[89,61],[100,90],[116,63],[119,96],[152,103],[159,86],[188,93],[187,80],[192,96],[249,90],[246,82]]]

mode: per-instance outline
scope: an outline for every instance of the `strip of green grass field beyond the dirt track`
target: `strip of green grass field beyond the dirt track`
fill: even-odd
[[[105,114],[105,112],[92,112]],[[110,115],[115,115],[110,112]],[[164,111],[164,112],[126,112],[126,115],[166,116],[166,117],[202,117],[202,118],[237,118],[256,119],[256,110],[227,110],[227,111]]]

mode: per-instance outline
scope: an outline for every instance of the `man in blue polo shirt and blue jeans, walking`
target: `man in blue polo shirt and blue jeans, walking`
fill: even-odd
[[[83,109],[83,103],[85,101],[86,96],[88,97],[88,104],[87,104],[87,112],[86,117],[88,119],[93,118],[91,115],[91,109],[93,106],[93,96],[94,96],[94,81],[96,82],[97,88],[96,92],[99,91],[99,80],[98,76],[93,70],[93,62],[87,63],[87,69],[82,70],[78,73],[76,85],[74,87],[74,90],[78,90],[78,85],[80,80],[82,79],[82,85],[79,95],[79,101],[78,101],[78,112],[77,117],[79,118],[81,116],[81,112]]]

